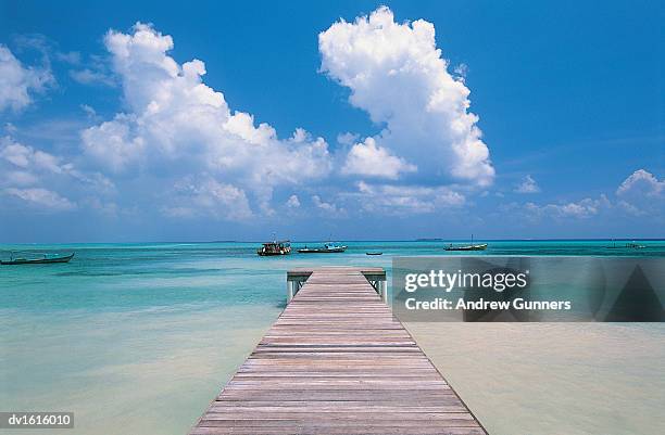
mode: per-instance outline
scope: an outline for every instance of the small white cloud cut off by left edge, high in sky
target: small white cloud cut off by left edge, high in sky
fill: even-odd
[[[24,108],[33,102],[32,93],[42,91],[52,82],[53,76],[48,68],[24,66],[0,44],[0,112]]]

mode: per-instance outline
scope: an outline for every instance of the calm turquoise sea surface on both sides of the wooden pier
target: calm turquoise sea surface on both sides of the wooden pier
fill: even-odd
[[[492,241],[482,254],[665,256],[665,241],[639,243]],[[256,243],[0,245],[2,258],[76,252],[0,267],[0,411],[73,411],[72,435],[184,434],[284,309],[286,270],[447,255],[444,242],[347,244],[268,258]],[[663,324],[407,328],[492,435],[665,433]]]

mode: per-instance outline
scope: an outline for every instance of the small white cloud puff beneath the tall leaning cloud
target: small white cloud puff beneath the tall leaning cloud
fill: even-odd
[[[388,150],[376,144],[373,138],[365,139],[364,143],[356,143],[347,155],[342,174],[361,175],[366,177],[381,177],[397,179],[401,172],[413,172],[414,165],[403,158],[391,155]]]

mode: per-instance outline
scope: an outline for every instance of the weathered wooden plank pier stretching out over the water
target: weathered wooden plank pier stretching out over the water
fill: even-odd
[[[289,273],[304,285],[191,435],[487,434],[371,284],[382,269]]]

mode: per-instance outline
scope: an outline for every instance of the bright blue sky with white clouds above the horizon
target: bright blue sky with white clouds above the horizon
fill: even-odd
[[[0,242],[665,236],[663,18],[0,1]]]

